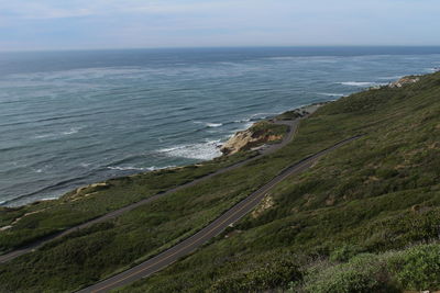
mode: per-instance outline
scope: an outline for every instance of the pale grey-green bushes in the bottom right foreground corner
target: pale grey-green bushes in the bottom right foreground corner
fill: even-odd
[[[317,262],[302,272],[292,292],[402,292],[440,286],[440,245],[418,245],[400,251],[361,253],[345,263]]]

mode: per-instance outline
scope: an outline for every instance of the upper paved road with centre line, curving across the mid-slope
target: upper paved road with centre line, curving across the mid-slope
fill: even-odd
[[[122,273],[119,273],[112,278],[109,278],[105,281],[101,281],[95,285],[91,285],[89,288],[86,288],[79,293],[89,293],[89,292],[107,292],[109,290],[127,285],[129,283],[132,283],[136,280],[146,278],[165,267],[169,266],[170,263],[177,261],[179,258],[187,256],[195,251],[197,248],[202,246],[205,243],[207,243],[209,239],[212,237],[219,235],[221,232],[223,232],[228,226],[232,225],[237,221],[239,221],[241,217],[246,215],[249,212],[251,212],[258,203],[265,196],[267,191],[270,191],[273,187],[275,187],[277,183],[286,179],[287,177],[292,174],[299,173],[307,168],[309,168],[316,160],[318,160],[320,157],[324,156],[329,151],[339,148],[354,139],[358,139],[361,137],[359,136],[353,136],[351,138],[348,138],[345,140],[342,140],[332,147],[329,147],[327,149],[323,149],[310,157],[307,157],[302,159],[301,161],[284,169],[278,176],[276,176],[273,180],[271,180],[268,183],[263,185],[261,189],[257,191],[253,192],[251,195],[249,195],[246,199],[234,205],[232,209],[230,209],[228,212],[222,214],[220,217],[215,219],[211,224],[199,230],[197,234],[193,235],[191,237],[187,238],[186,240],[182,241],[180,244],[172,247],[168,250],[165,250],[164,252],[157,255],[156,257],[146,260],[142,262],[141,264],[133,267]]]

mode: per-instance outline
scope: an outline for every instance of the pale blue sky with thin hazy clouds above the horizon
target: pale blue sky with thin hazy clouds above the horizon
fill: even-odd
[[[0,50],[440,45],[439,0],[0,0]]]

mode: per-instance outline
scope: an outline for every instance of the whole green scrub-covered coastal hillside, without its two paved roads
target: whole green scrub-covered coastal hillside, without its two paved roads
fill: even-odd
[[[327,104],[272,155],[0,264],[0,291],[68,292],[92,284],[193,235],[293,162],[358,134],[365,135],[284,180],[202,249],[120,291],[440,289],[440,74],[435,74]],[[0,232],[1,248],[11,250],[250,156],[110,180],[59,201],[4,210],[3,226],[28,216]]]

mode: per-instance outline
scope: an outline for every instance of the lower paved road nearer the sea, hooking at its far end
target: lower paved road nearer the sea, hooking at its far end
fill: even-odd
[[[8,253],[6,253],[6,255],[0,256],[0,263],[10,261],[10,260],[12,260],[12,259],[14,259],[14,258],[16,258],[16,257],[20,257],[20,256],[22,256],[22,255],[25,255],[25,253],[29,253],[29,252],[31,252],[31,251],[34,251],[34,250],[38,249],[38,248],[42,247],[44,244],[46,244],[46,243],[48,243],[48,241],[51,241],[51,240],[61,238],[61,237],[63,237],[63,236],[66,236],[66,235],[68,235],[68,234],[70,234],[70,233],[77,232],[77,230],[79,230],[79,229],[84,229],[84,228],[90,227],[90,226],[94,225],[94,224],[102,223],[102,222],[106,222],[106,221],[108,221],[108,219],[118,217],[118,216],[120,216],[120,215],[122,215],[122,214],[124,214],[124,213],[127,213],[127,212],[130,212],[130,211],[136,209],[138,206],[147,204],[147,203],[150,203],[150,202],[152,202],[152,201],[155,201],[155,200],[157,200],[157,199],[161,199],[161,198],[163,198],[163,196],[165,196],[165,195],[167,195],[167,194],[169,194],[169,193],[179,191],[179,190],[182,190],[182,189],[193,187],[193,185],[198,184],[198,183],[200,183],[200,182],[202,182],[202,181],[205,181],[205,180],[207,180],[207,179],[209,179],[209,178],[212,178],[212,177],[215,177],[215,176],[218,176],[218,174],[224,173],[224,172],[227,172],[227,171],[237,169],[237,168],[239,168],[239,167],[241,167],[241,166],[243,166],[243,165],[245,165],[245,164],[248,164],[248,162],[250,162],[250,161],[253,161],[253,160],[256,160],[256,159],[261,158],[262,156],[266,156],[266,155],[268,155],[268,154],[272,154],[272,153],[276,151],[277,149],[279,149],[279,148],[286,146],[288,143],[290,143],[290,140],[292,140],[292,138],[294,137],[294,134],[295,134],[295,132],[296,132],[296,129],[297,129],[299,120],[295,120],[295,121],[275,121],[275,123],[276,123],[276,124],[283,124],[283,125],[289,126],[289,131],[288,131],[287,135],[284,137],[284,139],[283,139],[282,143],[276,144],[276,145],[270,145],[268,147],[262,149],[262,150],[260,151],[260,155],[257,155],[257,156],[255,156],[255,157],[252,157],[252,158],[250,158],[250,159],[243,160],[243,161],[241,161],[241,162],[234,164],[234,165],[232,165],[232,166],[226,167],[226,168],[220,169],[220,170],[218,170],[218,171],[216,171],[216,172],[213,172],[213,173],[210,173],[210,174],[207,174],[207,176],[205,176],[205,177],[198,178],[198,179],[196,179],[196,180],[194,180],[194,181],[190,181],[190,182],[188,182],[188,183],[182,184],[182,185],[176,187],[176,188],[174,188],[174,189],[170,189],[170,190],[168,190],[168,191],[166,191],[166,192],[155,194],[155,195],[150,196],[150,198],[147,198],[147,199],[141,200],[141,201],[139,201],[139,202],[136,202],[136,203],[132,203],[132,204],[127,205],[127,206],[124,206],[124,207],[122,207],[122,209],[116,210],[116,211],[113,211],[113,212],[110,212],[110,213],[108,213],[108,214],[105,214],[105,215],[102,215],[102,216],[99,216],[99,217],[97,217],[97,218],[95,218],[95,219],[88,221],[88,222],[86,222],[86,223],[84,223],[84,224],[80,224],[80,225],[78,225],[78,226],[68,228],[68,229],[66,229],[66,230],[64,230],[64,232],[61,232],[61,233],[53,234],[53,235],[50,235],[50,236],[47,236],[47,237],[41,238],[41,239],[38,239],[37,241],[32,243],[32,244],[30,244],[30,245],[28,245],[28,246],[25,246],[25,247],[19,248],[19,249],[16,249],[16,250],[13,250],[13,251],[11,251],[11,252],[8,252]]]

